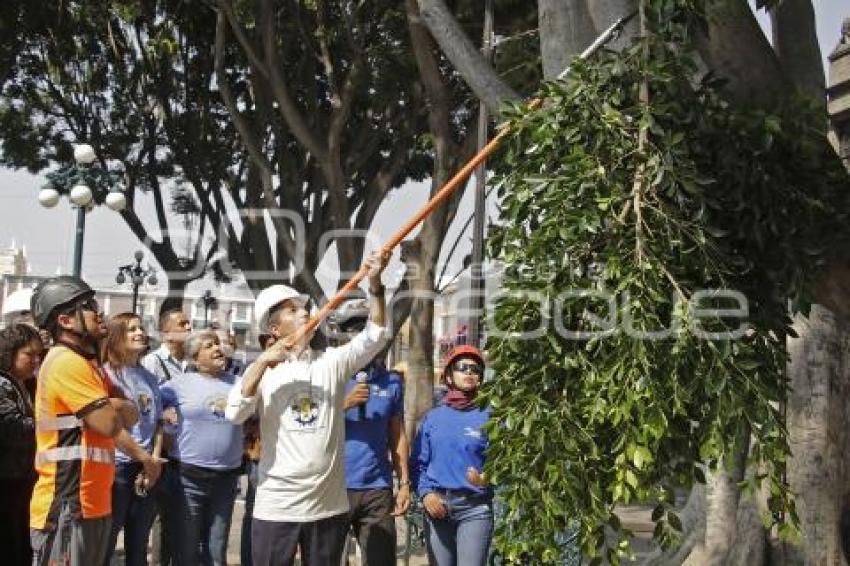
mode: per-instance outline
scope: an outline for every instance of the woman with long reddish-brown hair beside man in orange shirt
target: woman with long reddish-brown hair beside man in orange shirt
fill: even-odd
[[[139,421],[116,438],[115,481],[112,484],[112,536],[108,565],[118,533],[124,529],[128,566],[147,564],[148,536],[156,515],[155,494],[163,460],[162,396],[155,375],[139,365],[148,346],[141,319],[133,313],[115,315],[107,323],[104,369],[114,389],[136,403]],[[154,448],[157,447],[156,453]]]

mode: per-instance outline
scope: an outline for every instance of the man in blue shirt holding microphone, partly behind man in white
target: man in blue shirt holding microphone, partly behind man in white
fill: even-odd
[[[364,328],[368,314],[365,299],[350,299],[331,318],[332,338],[346,342]],[[395,517],[410,506],[401,376],[375,359],[353,375],[345,389],[345,474],[351,530],[364,566],[395,564]],[[390,459],[399,479],[395,496]]]

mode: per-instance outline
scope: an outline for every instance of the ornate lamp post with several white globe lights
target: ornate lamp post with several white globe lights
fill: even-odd
[[[67,195],[77,209],[74,237],[74,257],[71,273],[80,276],[83,266],[83,236],[86,230],[86,212],[96,204],[105,204],[114,211],[127,206],[127,198],[120,187],[120,175],[93,165],[97,156],[92,146],[74,146],[75,163],[47,174],[47,183],[38,193],[38,202],[53,208],[62,195]]]

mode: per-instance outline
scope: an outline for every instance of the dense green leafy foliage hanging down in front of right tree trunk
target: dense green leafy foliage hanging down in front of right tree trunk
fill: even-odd
[[[613,509],[635,501],[658,504],[656,537],[673,543],[672,489],[741,442],[751,487],[771,493],[765,519],[796,532],[788,305],[810,302],[846,237],[847,176],[804,108],[733,109],[720,81],[695,79],[699,14],[649,4],[655,34],[577,64],[542,109],[510,112],[486,394],[508,559],[555,560],[577,521],[584,553],[617,562]]]

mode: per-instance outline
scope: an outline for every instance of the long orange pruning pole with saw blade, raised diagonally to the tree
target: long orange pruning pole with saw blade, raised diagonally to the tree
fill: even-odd
[[[624,16],[614,22],[611,27],[602,32],[602,34],[597,37],[596,40],[577,58],[586,59],[590,57],[600,47],[602,47],[603,45],[611,41],[614,37],[619,35],[626,23],[631,20],[635,16],[635,14],[636,12],[632,12],[628,16]],[[567,73],[569,73],[569,71],[570,67],[567,67],[561,72],[561,74],[558,75],[558,78],[564,78]],[[542,98],[535,98],[528,103],[528,108],[530,110],[534,110],[536,108],[540,108],[542,104]],[[413,229],[419,225],[420,222],[425,220],[425,218],[427,218],[428,215],[434,211],[434,209],[443,204],[453,192],[455,192],[466,182],[467,179],[469,179],[469,176],[472,175],[475,169],[479,165],[481,165],[481,163],[485,159],[487,159],[487,157],[489,157],[494,151],[496,151],[496,148],[499,147],[499,145],[502,143],[502,140],[504,140],[510,133],[510,128],[502,128],[502,130],[496,135],[496,137],[494,137],[487,143],[487,145],[481,148],[478,153],[476,153],[472,157],[472,159],[470,159],[466,163],[466,165],[461,167],[460,171],[455,173],[455,175],[451,179],[449,179],[449,181],[445,185],[443,185],[443,187],[439,191],[437,191],[437,194],[431,197],[431,200],[425,203],[425,205],[415,215],[413,215],[410,220],[408,220],[404,224],[404,226],[399,228],[399,230],[383,246],[381,246],[382,254],[392,253],[395,247],[399,243],[401,243],[401,241],[405,239],[407,235],[410,234],[410,232],[412,232]],[[333,312],[333,310],[336,309],[345,300],[346,296],[348,296],[351,291],[357,288],[360,282],[363,281],[363,279],[366,277],[367,273],[368,269],[366,268],[366,266],[361,266],[360,269],[357,270],[357,273],[355,273],[354,276],[348,280],[348,283],[346,283],[342,287],[342,289],[337,291],[336,294],[331,298],[331,300],[325,303],[322,308],[319,309],[319,312],[317,312],[313,317],[310,318],[310,320],[307,321],[307,324],[296,330],[295,334],[293,334],[287,340],[287,342],[289,344],[296,344],[305,336],[312,333],[319,326],[319,324],[321,324],[321,322],[325,318],[327,318],[328,315],[330,315],[331,312]]]

